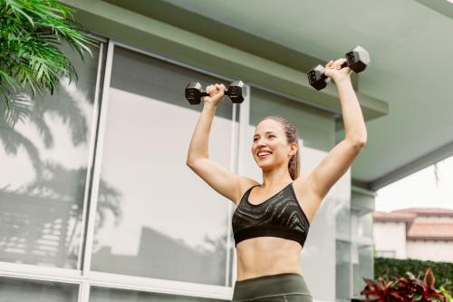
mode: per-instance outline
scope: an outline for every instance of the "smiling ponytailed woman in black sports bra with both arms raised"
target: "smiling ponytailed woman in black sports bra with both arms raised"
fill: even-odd
[[[208,159],[208,138],[223,84],[207,86],[203,111],[188,151],[188,166],[219,194],[236,204],[232,225],[237,278],[232,301],[313,301],[304,282],[301,251],[310,223],[333,184],[352,165],[367,139],[352,70],[341,58],[325,65],[342,105],[344,140],[309,173],[299,176],[299,145],[294,126],[278,116],[258,123],[252,154],[263,171],[259,184]]]

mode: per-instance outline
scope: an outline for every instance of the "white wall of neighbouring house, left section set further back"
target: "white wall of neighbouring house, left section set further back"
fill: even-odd
[[[394,251],[395,258],[406,258],[405,222],[374,222],[373,239],[378,253]]]

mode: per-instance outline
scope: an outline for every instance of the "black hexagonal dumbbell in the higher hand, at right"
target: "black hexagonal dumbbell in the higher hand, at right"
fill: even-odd
[[[370,54],[361,46],[356,46],[351,52],[345,54],[346,62],[342,68],[349,66],[355,73],[361,73],[370,64]],[[308,82],[316,90],[321,90],[331,82],[331,79],[324,74],[324,66],[319,64],[308,71]]]

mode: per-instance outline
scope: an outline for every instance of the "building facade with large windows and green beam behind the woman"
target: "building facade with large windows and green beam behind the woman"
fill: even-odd
[[[184,88],[246,83],[243,103],[217,108],[209,156],[258,181],[249,148],[262,118],[294,123],[305,173],[337,142],[335,115],[254,72],[277,63],[108,2],[65,3],[99,47],[84,61],[66,49],[79,81],[3,121],[0,301],[230,300],[235,207],[186,166],[201,105]],[[315,301],[349,301],[373,278],[373,209],[350,170],[323,200],[302,255]]]

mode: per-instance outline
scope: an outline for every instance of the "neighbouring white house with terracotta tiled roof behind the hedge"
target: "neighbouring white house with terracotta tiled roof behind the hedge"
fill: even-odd
[[[377,256],[453,262],[453,210],[409,208],[373,213]]]

